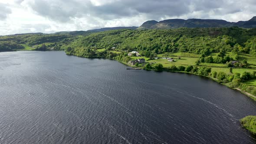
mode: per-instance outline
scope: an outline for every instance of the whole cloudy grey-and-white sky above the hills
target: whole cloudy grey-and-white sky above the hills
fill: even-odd
[[[256,0],[0,0],[0,35],[140,26],[172,18],[246,21]]]

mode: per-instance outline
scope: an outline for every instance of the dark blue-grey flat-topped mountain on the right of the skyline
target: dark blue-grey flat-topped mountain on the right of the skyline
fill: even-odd
[[[170,19],[157,22],[155,20],[146,21],[138,29],[175,29],[181,27],[188,28],[208,28],[208,27],[232,27],[256,28],[256,16],[248,21],[239,21],[237,23],[227,22],[226,20],[203,20],[203,19]]]

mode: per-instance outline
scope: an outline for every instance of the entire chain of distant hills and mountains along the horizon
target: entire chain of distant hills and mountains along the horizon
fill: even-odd
[[[226,20],[217,20],[217,19],[167,19],[167,20],[148,20],[142,23],[141,26],[118,26],[118,27],[105,27],[100,29],[89,29],[86,31],[61,31],[56,33],[17,33],[8,36],[19,36],[19,35],[44,35],[44,34],[69,34],[73,36],[78,35],[89,35],[90,33],[103,32],[108,30],[116,30],[116,29],[176,29],[176,28],[209,28],[209,27],[232,27],[237,26],[241,28],[256,28],[256,16],[253,16],[248,21],[238,21],[238,22],[228,22]]]

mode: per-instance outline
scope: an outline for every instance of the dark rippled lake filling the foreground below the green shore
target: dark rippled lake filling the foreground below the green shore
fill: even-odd
[[[256,143],[256,102],[197,75],[65,52],[0,52],[0,144]]]

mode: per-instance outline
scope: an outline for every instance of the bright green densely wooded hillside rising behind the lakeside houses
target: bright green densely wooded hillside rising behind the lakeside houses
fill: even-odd
[[[256,55],[256,29],[180,28],[151,30],[113,30],[80,37],[66,46],[68,54],[86,57],[106,57],[98,49],[139,51],[149,57],[164,52],[189,52],[210,55],[212,52],[237,52]]]

